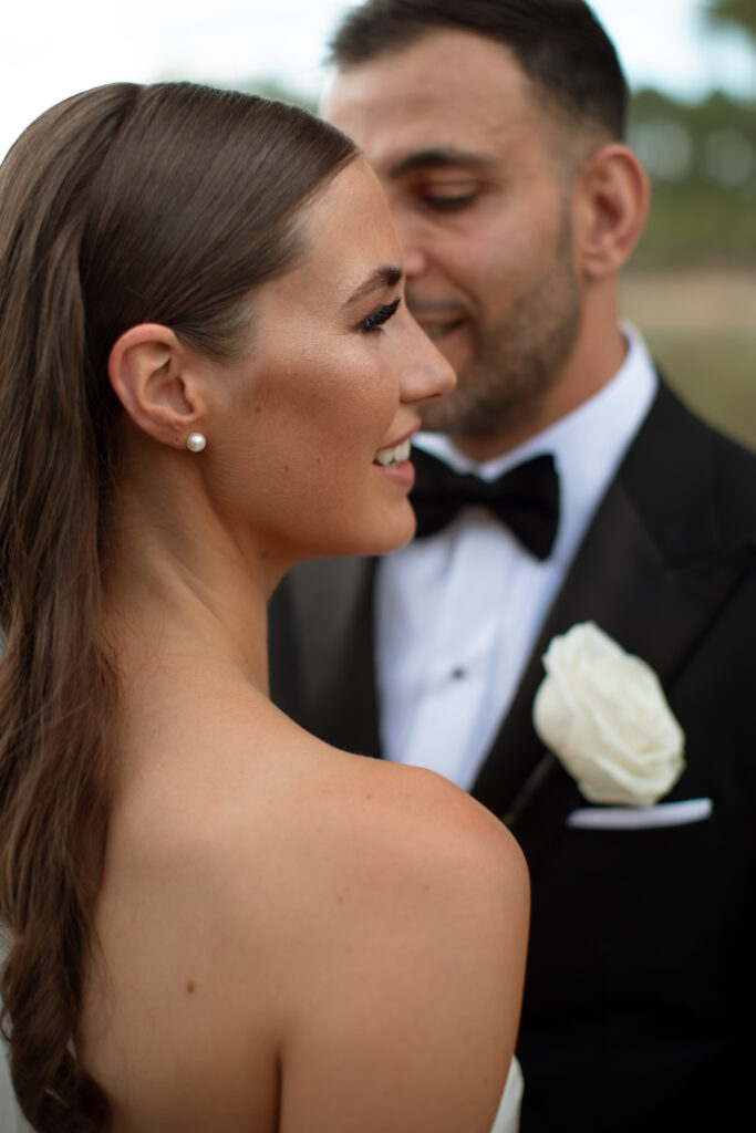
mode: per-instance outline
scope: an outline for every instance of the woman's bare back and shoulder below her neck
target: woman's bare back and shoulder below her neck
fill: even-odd
[[[79,1038],[113,1133],[487,1133],[524,963],[509,836],[223,664],[185,665],[170,710],[170,667],[143,678]]]

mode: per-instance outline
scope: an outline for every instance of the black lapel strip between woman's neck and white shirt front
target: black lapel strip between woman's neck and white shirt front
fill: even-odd
[[[374,574],[374,559],[331,559],[303,563],[289,579],[292,621],[304,630],[297,640],[300,723],[334,747],[369,756],[380,755]]]

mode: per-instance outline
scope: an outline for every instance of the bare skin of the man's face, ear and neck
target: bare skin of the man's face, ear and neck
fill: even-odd
[[[630,151],[562,120],[504,45],[468,32],[339,73],[323,112],[377,172],[409,308],[458,376],[426,427],[486,459],[610,380],[614,275],[648,196]]]

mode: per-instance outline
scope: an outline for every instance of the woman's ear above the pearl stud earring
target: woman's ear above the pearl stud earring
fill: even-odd
[[[134,424],[162,444],[184,446],[203,420],[202,387],[168,326],[139,323],[125,331],[110,351],[108,376]]]

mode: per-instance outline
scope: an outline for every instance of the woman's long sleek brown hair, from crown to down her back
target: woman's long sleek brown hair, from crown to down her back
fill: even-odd
[[[295,107],[113,84],[49,110],[0,167],[1,990],[44,1133],[109,1125],[74,1053],[112,790],[108,355],[141,322],[233,353],[243,300],[292,265],[298,211],[355,152]]]

